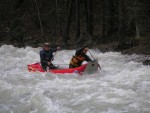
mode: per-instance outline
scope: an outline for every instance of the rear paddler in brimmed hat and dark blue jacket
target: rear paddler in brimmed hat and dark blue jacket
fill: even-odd
[[[40,51],[40,62],[41,66],[44,70],[47,69],[57,69],[55,65],[52,64],[52,60],[54,58],[53,52],[60,50],[60,47],[50,48],[49,43],[44,43],[43,49]]]

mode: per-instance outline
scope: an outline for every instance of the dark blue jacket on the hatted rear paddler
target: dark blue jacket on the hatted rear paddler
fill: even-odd
[[[40,51],[40,62],[42,67],[45,69],[48,66],[48,62],[51,62],[53,59],[53,52],[56,52],[57,49],[50,49],[49,51],[46,51],[42,49]]]

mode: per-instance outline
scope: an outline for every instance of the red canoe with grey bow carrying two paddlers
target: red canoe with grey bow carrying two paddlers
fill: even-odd
[[[65,73],[94,73],[98,70],[98,62],[97,60],[94,62],[88,62],[87,64],[83,64],[80,67],[77,68],[67,68],[67,69],[50,69],[50,73],[54,74],[65,74]],[[29,72],[46,72],[45,70],[42,69],[41,65],[39,62],[34,63],[34,64],[29,64],[28,65],[28,71]]]

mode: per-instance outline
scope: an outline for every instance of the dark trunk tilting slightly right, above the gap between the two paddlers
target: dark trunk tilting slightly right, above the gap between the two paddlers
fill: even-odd
[[[67,21],[65,25],[65,34],[64,34],[64,44],[67,46],[67,41],[69,39],[69,28],[71,23],[71,15],[72,15],[72,0],[69,2],[68,14],[67,14]]]

